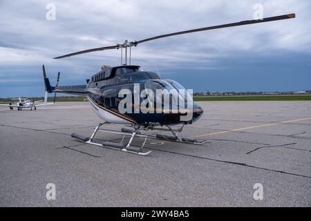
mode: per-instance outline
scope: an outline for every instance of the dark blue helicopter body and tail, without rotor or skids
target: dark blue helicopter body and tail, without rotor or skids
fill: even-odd
[[[139,96],[136,104],[135,102],[131,104],[131,111],[122,113],[118,108],[124,98],[119,95],[122,89],[131,91],[131,99],[134,101],[135,93],[140,95],[144,89],[154,90],[162,87],[168,90],[170,88],[178,90],[183,88],[176,81],[163,80],[157,73],[141,70],[140,66],[117,66],[113,68],[103,66],[99,73],[93,75],[91,79],[87,79],[86,82],[86,85],[51,87],[45,77],[46,88],[49,93],[86,95],[94,111],[105,122],[144,126],[191,124],[203,113],[202,108],[194,102],[186,110],[183,108],[183,111],[178,111],[178,106],[172,106],[171,101],[167,105],[163,104],[163,102],[162,104],[156,104],[153,113],[142,113],[140,104],[146,97],[141,96]],[[137,88],[139,88],[139,91],[137,91]],[[156,99],[154,99],[154,102],[156,102]],[[182,116],[189,113],[191,113],[191,118],[184,120]]]

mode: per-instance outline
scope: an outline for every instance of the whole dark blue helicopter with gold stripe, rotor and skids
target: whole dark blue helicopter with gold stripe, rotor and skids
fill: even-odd
[[[258,20],[246,20],[236,23],[226,23],[218,26],[196,28],[165,35],[158,35],[156,37],[150,37],[140,41],[125,40],[124,43],[116,44],[114,46],[91,48],[55,57],[54,59],[62,59],[88,52],[121,49],[120,66],[102,66],[98,73],[91,76],[90,79],[86,79],[86,84],[82,85],[51,86],[48,77],[46,77],[46,69],[43,65],[42,70],[46,88],[45,100],[48,93],[68,93],[86,96],[95,113],[103,119],[103,122],[96,126],[95,130],[89,137],[78,135],[76,133],[71,135],[86,144],[113,148],[115,150],[135,153],[138,155],[148,155],[151,153],[151,151],[145,152],[142,150],[144,144],[146,144],[147,138],[166,140],[169,142],[182,142],[187,144],[204,144],[206,142],[205,140],[194,140],[187,137],[180,137],[178,135],[178,133],[182,132],[182,128],[184,128],[185,125],[193,124],[200,119],[203,114],[202,108],[200,108],[200,106],[193,101],[187,90],[185,90],[185,88],[177,81],[161,79],[158,73],[144,71],[140,66],[131,65],[131,48],[133,46],[138,46],[138,44],[164,37],[184,35],[191,32],[215,30],[219,28],[243,26],[254,23],[292,19],[294,17],[296,17],[295,14],[288,14]],[[123,50],[125,50],[124,62]],[[129,64],[127,64],[128,60]],[[124,90],[128,93],[124,93]],[[162,91],[160,95],[157,93],[158,90]],[[148,91],[148,93],[146,91]],[[163,93],[163,91],[166,91],[166,93]],[[136,96],[135,93],[138,93],[139,95]],[[156,97],[154,95],[156,95]],[[167,95],[166,97],[168,97],[166,102],[164,101],[164,95]],[[134,100],[134,102],[124,102],[124,99],[129,99],[131,101]],[[138,104],[137,102],[135,103],[135,99]],[[176,100],[177,102],[174,102]],[[184,105],[186,103],[187,105]],[[124,112],[122,108],[125,108],[126,111]],[[146,109],[148,110],[147,113],[145,112]],[[101,126],[106,124],[123,124],[130,126],[130,128],[122,128],[121,131],[100,129]],[[178,127],[173,128],[174,126]],[[169,131],[172,133],[172,136],[162,134],[148,135],[142,133],[142,131],[149,130]],[[121,142],[111,142],[109,140],[99,142],[97,141],[98,139],[95,139],[95,135],[98,131],[120,134],[123,135],[123,138]],[[129,141],[125,142],[124,137],[127,136],[129,136]],[[135,137],[144,138],[142,145],[135,146],[132,144]]]

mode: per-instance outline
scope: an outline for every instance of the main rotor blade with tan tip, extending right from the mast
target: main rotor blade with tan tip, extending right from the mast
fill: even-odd
[[[205,31],[205,30],[214,30],[214,29],[218,29],[218,28],[228,28],[228,27],[234,27],[234,26],[244,26],[244,25],[249,25],[252,23],[263,23],[263,22],[267,22],[267,21],[293,19],[294,17],[296,17],[296,15],[293,13],[293,14],[288,14],[288,15],[279,15],[279,16],[275,16],[275,17],[267,17],[265,19],[260,19],[260,20],[247,20],[247,21],[240,21],[240,22],[235,22],[235,23],[227,23],[227,24],[223,24],[223,25],[219,25],[219,26],[196,28],[196,29],[191,29],[191,30],[184,30],[181,32],[173,32],[173,33],[166,34],[166,35],[158,35],[156,37],[150,37],[148,39],[142,39],[140,41],[134,41],[134,42],[135,42],[135,44],[140,44],[140,43],[146,42],[146,41],[161,39],[163,37],[171,37],[174,35],[183,35],[183,34],[187,34],[187,33],[191,33],[191,32],[201,32],[201,31]]]

